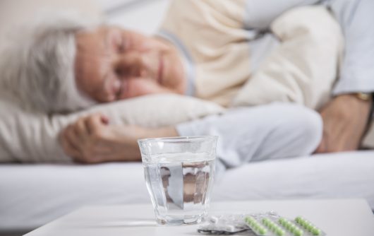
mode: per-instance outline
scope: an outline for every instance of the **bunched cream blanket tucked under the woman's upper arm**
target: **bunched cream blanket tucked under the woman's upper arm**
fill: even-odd
[[[314,110],[330,99],[343,52],[339,24],[324,6],[294,8],[271,25],[280,44],[231,105],[296,102]]]

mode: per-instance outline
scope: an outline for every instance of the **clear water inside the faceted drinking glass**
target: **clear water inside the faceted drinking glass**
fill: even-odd
[[[209,153],[164,153],[143,160],[145,181],[159,224],[200,223],[215,172]]]

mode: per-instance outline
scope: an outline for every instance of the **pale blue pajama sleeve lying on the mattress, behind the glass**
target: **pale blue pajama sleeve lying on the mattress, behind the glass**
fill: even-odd
[[[291,103],[229,110],[176,126],[179,136],[219,136],[217,158],[225,167],[309,155],[322,137],[320,115]]]

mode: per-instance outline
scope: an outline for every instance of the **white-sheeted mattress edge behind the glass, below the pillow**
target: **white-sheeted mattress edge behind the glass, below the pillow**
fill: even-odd
[[[374,151],[248,163],[219,173],[212,201],[363,198]],[[0,165],[0,232],[32,230],[85,205],[151,203],[141,163]]]

